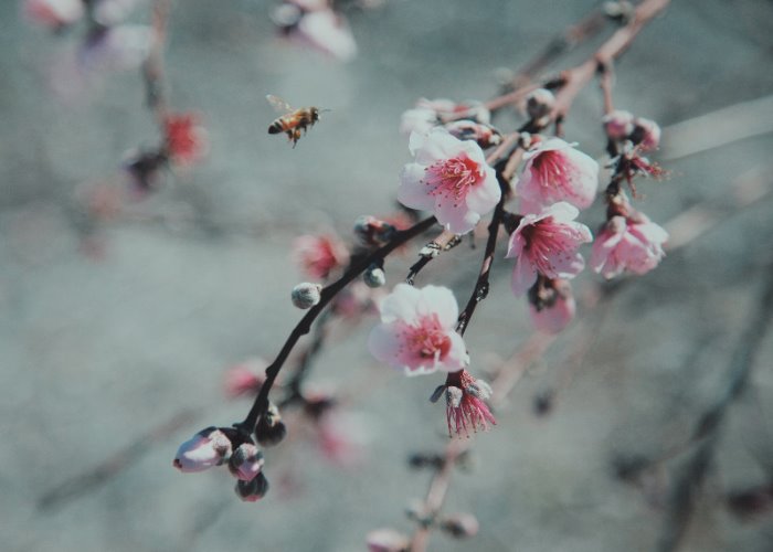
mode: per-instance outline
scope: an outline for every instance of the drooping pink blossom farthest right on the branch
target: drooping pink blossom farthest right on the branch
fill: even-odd
[[[634,217],[613,216],[593,244],[591,266],[605,278],[624,270],[645,274],[665,256],[663,244],[668,233],[644,214]]]

